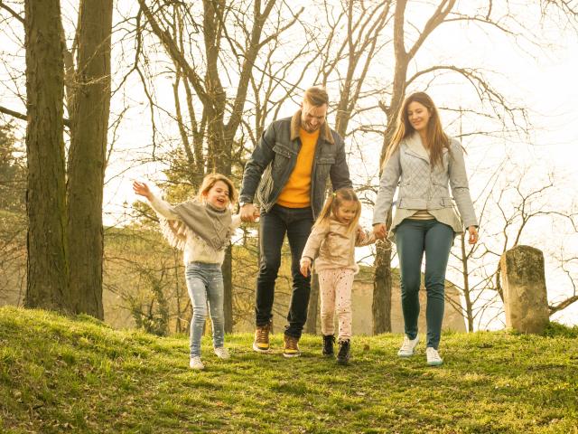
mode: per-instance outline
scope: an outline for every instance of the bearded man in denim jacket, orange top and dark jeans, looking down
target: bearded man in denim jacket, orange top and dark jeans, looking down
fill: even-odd
[[[245,166],[239,195],[241,220],[255,222],[255,196],[261,211],[253,343],[259,353],[269,351],[275,278],[286,233],[291,248],[293,290],[283,354],[300,355],[298,343],[307,319],[311,277],[303,277],[299,259],[322,210],[327,177],[333,190],[351,186],[343,139],[325,122],[328,103],[327,91],[322,87],[306,90],[301,109],[292,118],[276,120],[266,129]]]

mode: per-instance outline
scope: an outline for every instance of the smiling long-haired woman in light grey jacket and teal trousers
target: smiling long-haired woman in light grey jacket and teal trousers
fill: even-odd
[[[387,212],[397,184],[396,214],[387,228]],[[448,184],[461,219],[452,206]],[[388,238],[396,242],[399,255],[406,336],[397,355],[413,355],[419,342],[418,291],[425,253],[425,354],[427,364],[442,364],[437,349],[442,331],[445,269],[453,238],[463,232],[463,226],[468,228],[470,244],[478,241],[478,221],[461,145],[443,132],[433,100],[424,92],[407,97],[399,111],[396,132],[387,148],[373,224],[377,238],[385,238],[389,232]]]

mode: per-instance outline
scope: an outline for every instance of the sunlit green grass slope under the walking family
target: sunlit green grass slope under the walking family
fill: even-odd
[[[445,334],[445,363],[424,346],[396,357],[400,335],[353,339],[350,366],[320,355],[255,354],[230,335],[222,362],[203,338],[205,372],[188,369],[188,339],[117,331],[89,317],[0,309],[0,431],[20,432],[578,432],[578,329],[547,336]]]

